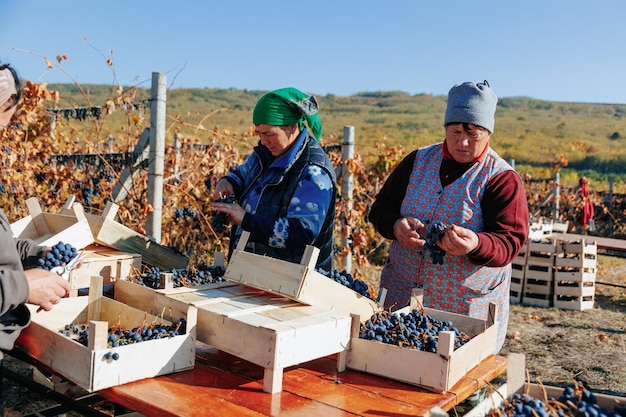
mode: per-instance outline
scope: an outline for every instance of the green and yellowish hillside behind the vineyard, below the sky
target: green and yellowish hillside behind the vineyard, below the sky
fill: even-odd
[[[115,95],[110,86],[52,84],[63,106],[97,106]],[[177,132],[201,142],[213,131],[244,133],[250,129],[256,100],[264,91],[171,89],[167,93],[167,140]],[[87,99],[88,97],[88,99]],[[138,88],[134,102],[147,103],[150,91]],[[318,96],[324,123],[322,142],[340,144],[344,126],[354,126],[357,152],[364,159],[380,152],[376,145],[406,151],[443,138],[445,96],[409,95],[399,91],[363,92],[353,96]],[[149,116],[149,110],[146,110]],[[560,103],[528,97],[501,98],[492,147],[514,160],[521,173],[551,177],[560,169],[564,182],[578,175],[592,181],[626,178],[626,105]],[[122,135],[121,119],[103,124],[99,135]],[[94,132],[95,134],[95,132]],[[226,135],[228,136],[228,135]],[[237,146],[250,147],[254,139]]]

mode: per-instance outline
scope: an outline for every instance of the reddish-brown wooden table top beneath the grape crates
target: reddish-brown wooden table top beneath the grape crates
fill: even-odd
[[[199,346],[192,370],[144,379],[98,393],[149,417],[162,416],[424,416],[450,410],[506,371],[492,355],[450,391],[419,387],[358,371],[337,372],[336,355],[291,368],[283,391],[263,391],[263,368],[208,346]]]

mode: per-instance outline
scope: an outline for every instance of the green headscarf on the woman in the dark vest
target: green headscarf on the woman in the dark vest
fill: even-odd
[[[270,91],[257,101],[252,113],[252,123],[272,126],[298,124],[300,130],[306,121],[313,137],[319,142],[322,136],[322,122],[318,116],[315,96],[297,88],[288,87]]]

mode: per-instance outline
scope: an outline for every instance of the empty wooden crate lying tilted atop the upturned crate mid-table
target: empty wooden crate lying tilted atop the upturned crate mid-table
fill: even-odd
[[[315,271],[319,249],[307,246],[300,264],[245,252],[244,232],[230,257],[224,279],[282,295],[330,311],[370,316],[382,310],[376,301]]]

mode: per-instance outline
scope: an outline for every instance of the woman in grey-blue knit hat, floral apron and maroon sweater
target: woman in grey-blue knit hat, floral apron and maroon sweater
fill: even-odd
[[[380,280],[385,307],[408,305],[415,287],[424,307],[483,320],[495,302],[496,352],[508,326],[511,262],[528,235],[522,180],[489,146],[497,101],[487,81],[452,87],[443,141],[407,155],[369,213],[392,240]]]

